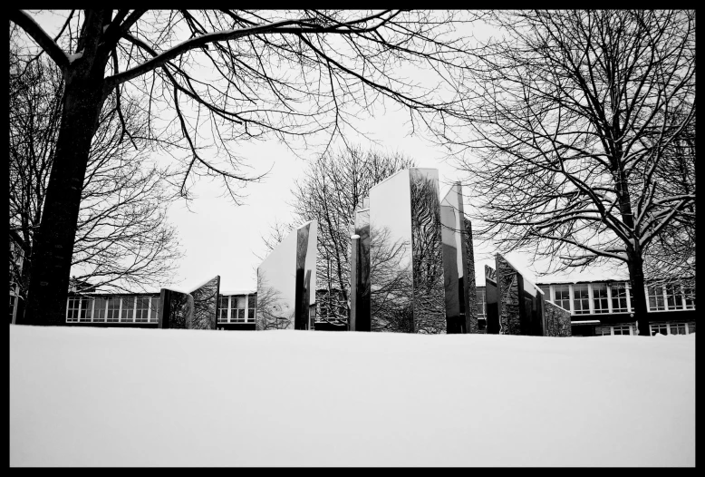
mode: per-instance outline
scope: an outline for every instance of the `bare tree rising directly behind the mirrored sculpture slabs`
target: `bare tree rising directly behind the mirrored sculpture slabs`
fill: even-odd
[[[324,154],[304,170],[297,180],[291,204],[295,217],[275,225],[264,238],[266,248],[275,248],[295,224],[318,221],[316,295],[323,321],[347,322],[350,305],[350,244],[355,210],[372,186],[395,172],[413,167],[412,160],[398,153],[364,151],[360,146]]]

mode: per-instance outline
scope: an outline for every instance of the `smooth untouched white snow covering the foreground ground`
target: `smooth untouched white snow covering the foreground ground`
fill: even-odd
[[[10,326],[11,466],[691,466],[695,336]]]

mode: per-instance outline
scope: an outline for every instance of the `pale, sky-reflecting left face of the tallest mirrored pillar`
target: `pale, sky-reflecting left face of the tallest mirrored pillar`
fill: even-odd
[[[413,333],[410,171],[370,190],[372,331]]]

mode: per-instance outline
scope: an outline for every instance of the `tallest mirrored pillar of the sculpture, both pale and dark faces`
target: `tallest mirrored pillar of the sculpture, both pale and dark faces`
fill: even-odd
[[[372,331],[446,333],[438,170],[370,190]]]

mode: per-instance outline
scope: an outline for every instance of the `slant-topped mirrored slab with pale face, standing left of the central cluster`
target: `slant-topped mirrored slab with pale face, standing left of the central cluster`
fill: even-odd
[[[315,220],[293,230],[257,268],[256,329],[307,329],[315,309]]]

